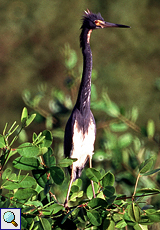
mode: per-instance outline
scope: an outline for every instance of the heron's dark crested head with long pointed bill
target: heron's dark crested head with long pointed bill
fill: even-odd
[[[83,24],[81,27],[82,29],[87,28],[93,30],[108,27],[130,28],[130,26],[105,22],[100,13],[93,14],[89,10],[85,11],[85,15],[83,17]]]

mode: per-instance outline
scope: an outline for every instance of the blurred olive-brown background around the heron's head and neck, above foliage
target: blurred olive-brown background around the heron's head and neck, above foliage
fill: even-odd
[[[137,106],[137,123],[145,125],[151,118],[156,131],[160,131],[159,0],[1,0],[1,133],[6,122],[19,121],[25,106],[24,90],[36,94],[38,85],[45,83],[48,96],[50,88],[70,95],[65,86],[67,73],[62,49],[68,43],[76,51],[81,73],[79,28],[87,8],[101,12],[106,21],[131,26],[96,30],[92,34],[93,68],[97,71],[94,83],[99,97],[104,89],[120,107]],[[77,91],[72,96],[76,98]],[[48,103],[49,100],[43,103],[44,111]],[[36,131],[36,126],[32,127]]]

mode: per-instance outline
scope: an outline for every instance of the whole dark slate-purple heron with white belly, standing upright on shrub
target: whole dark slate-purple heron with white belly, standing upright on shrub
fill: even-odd
[[[83,72],[75,106],[67,121],[64,134],[64,155],[77,160],[69,167],[70,183],[64,207],[68,207],[68,200],[73,181],[81,176],[82,170],[89,161],[92,168],[92,156],[96,138],[96,122],[90,109],[91,100],[91,73],[92,52],[90,48],[91,32],[95,29],[129,26],[105,22],[101,14],[94,14],[88,9],[82,18],[80,47],[83,55]],[[91,181],[93,197],[95,196],[94,184]]]

